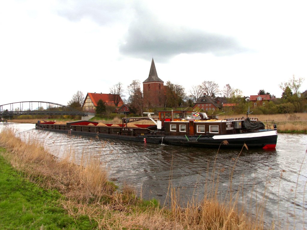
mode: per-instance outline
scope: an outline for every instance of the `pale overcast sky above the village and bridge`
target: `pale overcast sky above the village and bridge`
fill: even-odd
[[[1,1],[0,105],[67,105],[78,90],[109,93],[158,77],[214,81],[243,96],[305,78],[305,1]],[[127,94],[127,93],[126,93]]]

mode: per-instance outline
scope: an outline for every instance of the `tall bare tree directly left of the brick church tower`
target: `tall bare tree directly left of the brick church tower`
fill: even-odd
[[[143,93],[141,91],[140,81],[133,80],[132,83],[127,87],[128,88],[128,102],[130,104],[131,109],[134,113],[141,112],[143,114]]]

